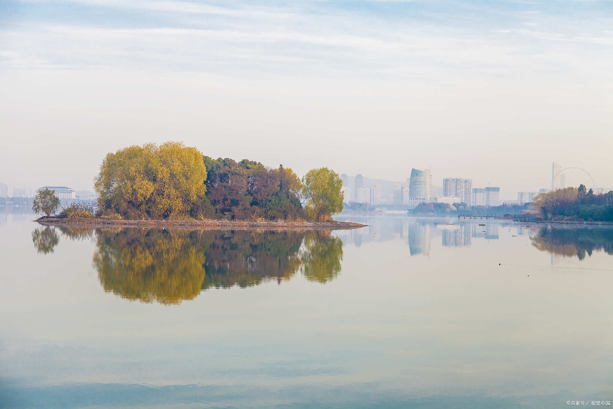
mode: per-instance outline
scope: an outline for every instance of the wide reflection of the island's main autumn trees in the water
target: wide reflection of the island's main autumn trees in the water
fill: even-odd
[[[301,269],[325,283],[340,272],[342,242],[330,232],[96,229],[93,265],[104,291],[180,304],[202,289],[289,280]],[[305,251],[300,251],[304,242]]]

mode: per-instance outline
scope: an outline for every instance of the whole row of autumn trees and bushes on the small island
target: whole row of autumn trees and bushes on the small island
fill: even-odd
[[[95,213],[128,220],[329,221],[343,210],[342,186],[327,167],[300,179],[283,165],[213,159],[181,142],[147,143],[107,154],[94,178]],[[35,212],[55,213],[53,191],[38,198]],[[69,205],[61,216],[93,217],[92,211]]]

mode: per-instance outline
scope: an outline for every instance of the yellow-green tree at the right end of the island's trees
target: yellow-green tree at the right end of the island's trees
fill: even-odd
[[[302,178],[302,196],[307,201],[307,216],[316,221],[331,220],[343,210],[343,180],[337,172],[320,167],[311,169]]]

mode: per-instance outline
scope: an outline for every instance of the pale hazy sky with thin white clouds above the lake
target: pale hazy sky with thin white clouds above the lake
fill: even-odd
[[[0,0],[0,182],[93,189],[185,142],[299,174],[502,199],[552,162],[613,188],[613,1]]]

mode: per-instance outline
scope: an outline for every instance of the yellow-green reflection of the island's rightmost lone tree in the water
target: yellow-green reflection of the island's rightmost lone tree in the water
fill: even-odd
[[[305,234],[304,243],[301,270],[307,280],[327,283],[337,278],[343,260],[343,240],[329,231],[312,231]]]

